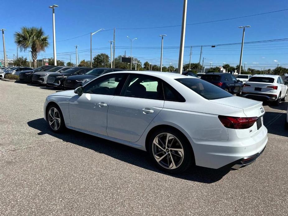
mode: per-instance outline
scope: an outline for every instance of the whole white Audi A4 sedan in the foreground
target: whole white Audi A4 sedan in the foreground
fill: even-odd
[[[239,169],[264,151],[262,102],[233,96],[196,77],[165,72],[107,73],[46,98],[44,118],[64,128],[149,152],[159,168]]]

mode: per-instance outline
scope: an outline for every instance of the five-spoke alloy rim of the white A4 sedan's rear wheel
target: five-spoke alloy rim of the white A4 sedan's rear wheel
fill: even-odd
[[[172,134],[158,134],[152,144],[152,152],[159,165],[166,169],[176,169],[184,158],[184,150],[180,141]]]

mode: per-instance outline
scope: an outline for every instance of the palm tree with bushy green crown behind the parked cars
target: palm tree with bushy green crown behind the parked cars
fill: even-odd
[[[48,35],[45,35],[43,29],[37,27],[22,27],[20,32],[15,32],[14,41],[20,48],[20,51],[31,49],[33,67],[37,67],[37,55],[40,51],[45,51],[49,46]]]

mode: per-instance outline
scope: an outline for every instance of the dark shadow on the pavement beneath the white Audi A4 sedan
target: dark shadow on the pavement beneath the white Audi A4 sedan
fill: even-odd
[[[64,142],[89,148],[95,152],[106,154],[126,163],[188,181],[197,181],[209,184],[219,181],[230,171],[196,166],[191,168],[191,170],[185,171],[184,173],[172,175],[158,170],[145,151],[70,129],[66,129],[62,134],[56,134],[49,129],[47,122],[43,118],[29,121],[27,124],[31,128],[39,130],[40,132],[38,135],[49,134],[58,139],[62,139]]]

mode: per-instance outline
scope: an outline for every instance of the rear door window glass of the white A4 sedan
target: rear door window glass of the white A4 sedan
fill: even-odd
[[[157,77],[130,74],[122,96],[163,100],[161,80]]]

